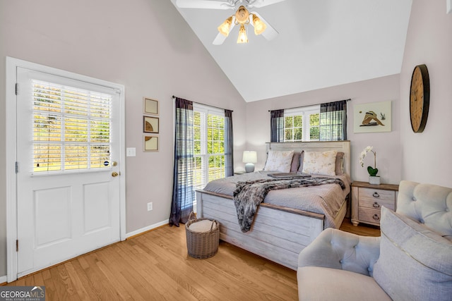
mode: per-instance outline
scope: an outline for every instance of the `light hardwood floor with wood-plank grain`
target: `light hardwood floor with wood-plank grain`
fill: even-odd
[[[378,236],[379,228],[341,229]],[[45,285],[53,300],[297,300],[297,273],[220,242],[218,254],[194,259],[185,228],[162,226],[7,285]]]

